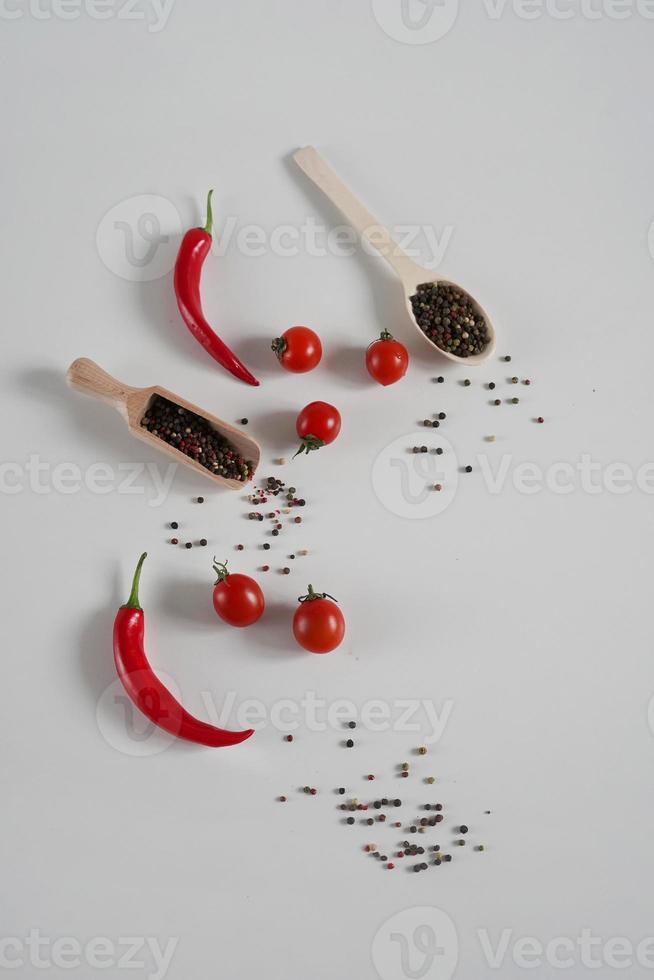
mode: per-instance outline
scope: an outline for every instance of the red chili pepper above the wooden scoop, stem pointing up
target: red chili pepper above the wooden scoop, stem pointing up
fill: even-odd
[[[235,378],[246,381],[250,385],[258,385],[259,382],[254,375],[211,329],[202,312],[200,276],[204,260],[211,248],[212,194],[213,191],[209,191],[207,196],[207,223],[204,228],[191,228],[190,231],[187,231],[179,247],[177,261],[175,262],[174,280],[177,305],[184,323],[208,354],[211,354],[219,364],[231,371]]]

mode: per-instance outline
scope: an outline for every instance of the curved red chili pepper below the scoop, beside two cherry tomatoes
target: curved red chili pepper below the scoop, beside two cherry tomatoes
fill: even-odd
[[[123,687],[146,718],[177,738],[213,747],[244,742],[254,734],[251,728],[244,732],[228,732],[194,718],[150,667],[143,649],[145,618],[139,605],[139,581],[145,558],[146,553],[139,558],[129,599],[120,607],[114,620],[114,660]]]

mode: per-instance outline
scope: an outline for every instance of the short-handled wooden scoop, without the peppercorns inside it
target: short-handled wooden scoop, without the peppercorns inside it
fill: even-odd
[[[213,483],[218,483],[222,487],[229,487],[230,490],[239,490],[245,486],[245,482],[227,479],[226,477],[212,473],[206,467],[201,466],[200,463],[196,463],[189,456],[185,456],[179,449],[175,449],[174,446],[170,446],[163,439],[159,439],[157,436],[148,432],[147,429],[143,428],[141,420],[147,413],[155,395],[161,395],[162,398],[167,398],[168,401],[174,402],[180,408],[195,412],[196,415],[200,415],[206,419],[212,428],[216,432],[219,432],[221,436],[224,436],[234,449],[251,464],[253,475],[259,465],[261,447],[254,439],[251,439],[250,436],[245,435],[239,429],[235,429],[228,422],[223,422],[222,419],[216,418],[215,415],[210,415],[204,409],[198,408],[197,405],[187,402],[185,398],[180,398],[179,395],[175,395],[165,388],[160,388],[158,385],[152,388],[132,388],[130,385],[121,384],[120,381],[116,381],[110,374],[103,371],[94,361],[90,361],[88,357],[78,357],[76,361],[73,361],[68,368],[66,380],[71,388],[75,388],[77,391],[83,391],[87,395],[93,395],[94,398],[99,398],[101,401],[107,402],[108,405],[116,408],[127,422],[127,426],[132,435],[136,436],[137,439],[143,439],[144,442],[166,453],[177,463],[184,463],[185,466],[190,466],[191,469],[196,470]]]

